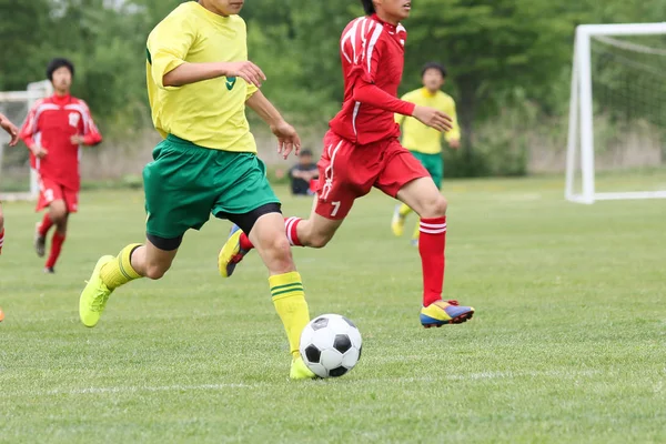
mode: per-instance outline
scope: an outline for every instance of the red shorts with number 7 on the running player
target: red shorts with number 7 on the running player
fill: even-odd
[[[408,182],[430,178],[397,139],[357,145],[333,131],[324,137],[324,151],[316,165],[320,178],[315,211],[332,220],[344,219],[354,200],[367,194],[373,186],[395,198]]]

